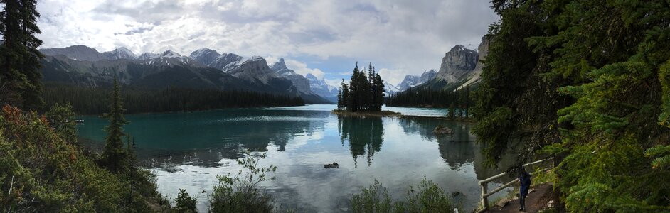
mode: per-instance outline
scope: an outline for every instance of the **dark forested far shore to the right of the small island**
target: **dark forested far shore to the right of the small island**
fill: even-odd
[[[410,88],[386,98],[386,106],[467,109],[470,103],[468,94],[469,87],[456,91]]]

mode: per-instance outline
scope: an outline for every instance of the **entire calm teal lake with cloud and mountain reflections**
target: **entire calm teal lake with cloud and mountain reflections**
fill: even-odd
[[[207,210],[216,175],[236,173],[240,167],[235,159],[245,150],[267,153],[260,164],[276,165],[271,174],[276,179],[260,187],[275,197],[275,206],[299,212],[349,212],[351,194],[375,180],[400,200],[409,185],[424,177],[449,194],[461,192],[462,208],[470,212],[481,195],[477,182],[504,172],[484,168],[472,124],[438,118],[447,109],[384,107],[435,118],[356,118],[331,114],[335,107],[133,114],[126,116],[130,124],[124,129],[134,137],[141,166],[158,175],[159,191],[174,200],[180,188],[186,189],[198,198],[200,212]],[[107,121],[79,119],[85,120],[78,125],[80,141],[100,149]],[[432,130],[438,125],[454,133],[435,136]],[[324,169],[332,162],[340,168]],[[489,190],[499,185],[489,185]]]

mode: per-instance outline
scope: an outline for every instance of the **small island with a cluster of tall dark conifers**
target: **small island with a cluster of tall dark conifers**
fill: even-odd
[[[342,87],[337,93],[337,109],[333,113],[346,116],[400,116],[398,112],[381,110],[385,96],[384,81],[375,72],[372,63],[368,65],[367,76],[364,70],[359,70],[356,62],[349,84],[342,80]]]

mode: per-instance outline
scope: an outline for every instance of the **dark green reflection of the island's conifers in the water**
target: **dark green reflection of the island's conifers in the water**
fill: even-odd
[[[373,155],[381,151],[384,142],[384,125],[381,117],[338,116],[340,140],[349,142],[349,150],[358,167],[358,156],[366,159],[371,165]],[[367,154],[366,154],[367,153]]]

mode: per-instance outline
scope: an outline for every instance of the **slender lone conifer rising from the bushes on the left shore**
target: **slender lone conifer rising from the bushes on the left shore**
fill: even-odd
[[[122,138],[126,135],[122,126],[128,124],[123,116],[123,102],[121,99],[121,87],[117,76],[114,76],[114,89],[110,94],[110,112],[104,116],[110,120],[110,125],[105,126],[107,137],[105,138],[105,151],[102,153],[102,163],[110,171],[119,173],[125,167],[126,151]]]

